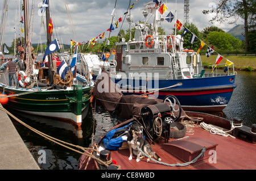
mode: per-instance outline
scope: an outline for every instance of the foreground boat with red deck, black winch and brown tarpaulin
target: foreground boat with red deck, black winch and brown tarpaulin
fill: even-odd
[[[106,70],[96,82],[94,98],[122,122],[81,155],[80,170],[256,169],[256,124],[250,128],[238,117],[230,121],[209,113],[184,111],[174,95],[164,101],[123,95]],[[135,155],[129,159],[127,131],[134,123],[141,124],[145,139],[161,161],[143,158],[137,162]]]

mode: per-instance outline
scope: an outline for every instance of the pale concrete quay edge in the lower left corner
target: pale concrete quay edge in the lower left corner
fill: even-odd
[[[10,117],[0,112],[0,170],[40,170]]]

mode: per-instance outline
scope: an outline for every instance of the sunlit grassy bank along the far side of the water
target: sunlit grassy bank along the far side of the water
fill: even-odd
[[[234,62],[234,66],[236,69],[241,70],[256,70],[256,56],[223,56],[224,58],[221,60],[220,64],[225,64],[226,59]],[[201,55],[201,60],[204,66],[215,64],[217,55],[212,55],[209,58],[205,56],[205,54]]]

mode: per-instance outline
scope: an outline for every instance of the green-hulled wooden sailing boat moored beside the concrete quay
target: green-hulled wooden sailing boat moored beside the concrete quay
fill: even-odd
[[[44,54],[48,57],[48,66],[41,66],[42,61],[36,62],[30,56],[28,1],[24,1],[23,5],[25,40],[28,43],[24,48],[19,47],[24,50],[24,54],[23,51],[20,51],[22,53],[19,53],[18,57],[18,63],[21,62],[21,65],[23,65],[17,65],[19,69],[18,84],[9,86],[7,85],[8,81],[5,82],[6,78],[2,76],[0,91],[4,92],[9,98],[3,106],[31,115],[53,117],[56,120],[67,121],[75,127],[81,128],[85,111],[88,111],[94,83],[82,75],[73,75],[68,66],[65,68],[67,73],[62,77],[60,75],[61,68],[66,65],[65,61],[54,61],[55,58],[52,58],[52,52],[48,53],[47,56],[46,53]],[[49,24],[49,7],[46,10],[46,17],[47,24]],[[50,33],[47,34],[48,47],[52,45],[53,49],[58,47],[57,40],[51,41]],[[24,60],[23,57],[25,57]],[[24,64],[26,64],[26,69],[23,69]],[[57,70],[57,73],[53,73],[54,69]],[[89,77],[88,74],[87,77]]]

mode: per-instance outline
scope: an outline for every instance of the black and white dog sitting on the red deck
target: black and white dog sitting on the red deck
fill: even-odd
[[[151,158],[154,157],[156,160],[161,161],[161,158],[155,151],[152,151],[150,144],[145,140],[143,136],[143,128],[139,123],[131,124],[129,132],[127,133],[127,144],[129,145],[130,157],[129,160],[133,159],[133,153],[137,155],[136,161],[141,161],[144,156],[141,151],[137,149],[137,146]],[[150,158],[147,159],[147,162]]]

